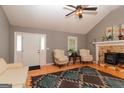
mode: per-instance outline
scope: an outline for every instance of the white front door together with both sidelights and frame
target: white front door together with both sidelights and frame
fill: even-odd
[[[22,36],[21,43],[18,44],[19,41],[15,40],[15,62],[22,62],[24,66],[46,64],[46,35],[23,32],[21,34],[16,32],[15,35],[16,37]]]

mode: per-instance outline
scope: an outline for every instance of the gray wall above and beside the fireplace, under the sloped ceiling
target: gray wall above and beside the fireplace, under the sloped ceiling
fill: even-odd
[[[105,34],[106,27],[118,24],[124,24],[124,6],[113,10],[86,35],[86,46],[91,50],[91,53],[94,56],[95,46],[92,44],[92,42],[101,41],[101,37]]]

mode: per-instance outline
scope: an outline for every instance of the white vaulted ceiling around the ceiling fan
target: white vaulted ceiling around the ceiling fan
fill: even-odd
[[[75,15],[65,17],[71,11],[64,9],[64,6],[61,5],[2,6],[11,25],[81,34],[88,33],[107,14],[119,6],[97,7],[98,13],[96,15],[85,14],[79,20]]]

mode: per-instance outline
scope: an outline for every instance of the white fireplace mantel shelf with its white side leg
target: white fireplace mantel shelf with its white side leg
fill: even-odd
[[[124,40],[93,42],[96,47],[96,64],[99,63],[99,51],[102,46],[124,46]]]

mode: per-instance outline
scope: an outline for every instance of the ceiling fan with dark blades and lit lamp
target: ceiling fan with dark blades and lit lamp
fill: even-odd
[[[79,16],[79,18],[82,18],[82,14],[84,11],[96,11],[97,10],[97,7],[88,7],[88,5],[77,5],[77,6],[74,6],[74,5],[66,5],[68,7],[71,7],[71,8],[74,8],[75,10],[73,10],[72,12],[66,14],[65,16],[69,16],[73,13],[75,13],[75,15]],[[68,9],[68,8],[66,8]],[[70,10],[70,9],[68,9]]]

